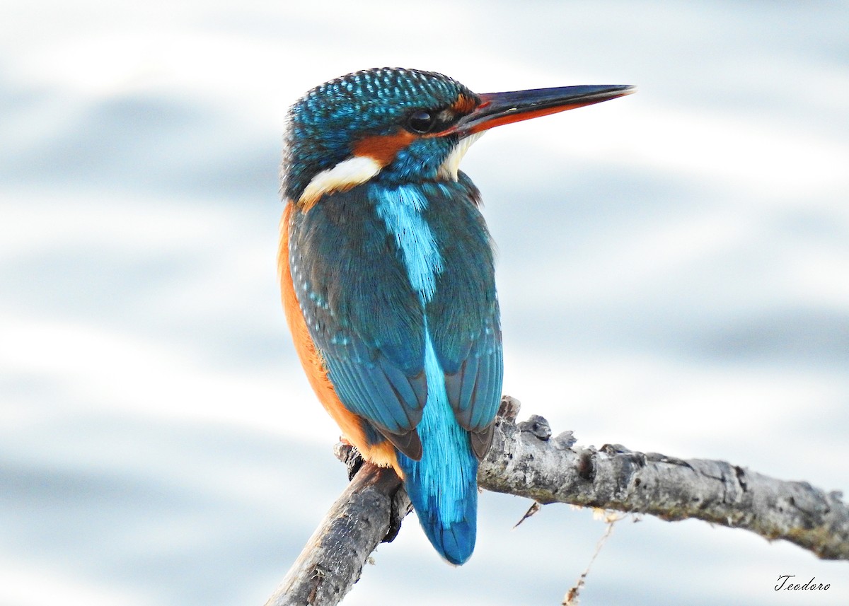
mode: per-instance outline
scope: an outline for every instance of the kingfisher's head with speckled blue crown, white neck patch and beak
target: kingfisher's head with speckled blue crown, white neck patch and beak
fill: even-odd
[[[378,68],[325,82],[290,109],[284,194],[309,209],[325,194],[458,178],[469,145],[493,126],[633,93],[629,86],[475,94],[435,72]]]

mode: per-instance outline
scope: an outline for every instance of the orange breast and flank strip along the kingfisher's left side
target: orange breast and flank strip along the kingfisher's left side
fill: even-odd
[[[351,442],[363,454],[368,461],[381,467],[393,467],[397,474],[403,477],[398,467],[395,449],[387,440],[380,444],[369,446],[363,432],[363,419],[349,411],[336,395],[336,390],[330,382],[327,368],[325,368],[321,352],[316,348],[309,330],[306,328],[304,314],[298,304],[295,295],[295,286],[292,283],[292,273],[289,267],[289,229],[292,213],[296,212],[295,205],[286,204],[283,218],[280,220],[280,247],[278,250],[278,273],[280,278],[280,294],[283,298],[283,307],[286,311],[286,320],[295,341],[295,351],[301,359],[301,365],[306,371],[312,389],[315,390],[318,400],[330,416],[335,420],[342,430],[342,435]]]

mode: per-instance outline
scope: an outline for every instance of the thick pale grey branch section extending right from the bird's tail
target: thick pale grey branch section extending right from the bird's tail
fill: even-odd
[[[508,398],[505,398],[507,400]],[[824,559],[849,559],[849,509],[840,493],[775,480],[724,461],[683,461],[607,445],[572,447],[545,419],[499,420],[478,483],[541,503],[565,502],[661,519],[703,519],[785,539]]]

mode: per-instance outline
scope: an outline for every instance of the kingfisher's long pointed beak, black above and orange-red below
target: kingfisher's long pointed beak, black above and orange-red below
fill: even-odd
[[[482,99],[481,104],[469,115],[461,118],[448,132],[466,137],[494,126],[601,103],[636,91],[636,87],[627,84],[602,84],[585,87],[535,88],[510,93],[484,93],[479,95]]]

